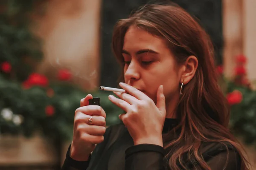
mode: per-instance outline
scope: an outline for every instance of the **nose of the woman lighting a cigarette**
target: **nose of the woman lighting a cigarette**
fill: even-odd
[[[140,67],[136,63],[136,61],[131,61],[127,70],[124,73],[124,77],[125,77],[126,82],[129,82],[131,80],[140,79],[139,70],[140,70]]]

